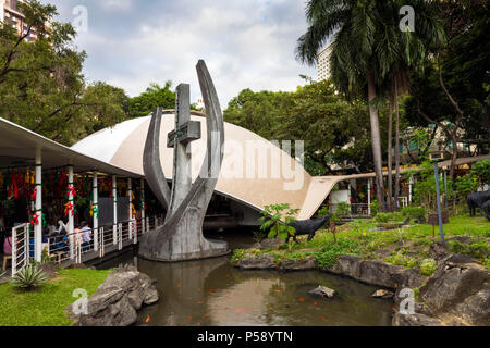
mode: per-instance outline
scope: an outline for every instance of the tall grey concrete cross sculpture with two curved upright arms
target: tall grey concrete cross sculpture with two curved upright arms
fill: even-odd
[[[176,88],[175,130],[167,146],[174,149],[173,185],[169,188],[160,164],[160,125],[162,109],[151,117],[145,145],[143,167],[148,186],[167,210],[163,225],[143,235],[139,256],[164,262],[197,260],[230,252],[228,244],[206,239],[203,223],[221,171],[224,123],[218,95],[204,61],[197,63],[197,76],[206,107],[207,154],[199,176],[192,183],[191,141],[200,138],[200,122],[191,121],[189,86]]]

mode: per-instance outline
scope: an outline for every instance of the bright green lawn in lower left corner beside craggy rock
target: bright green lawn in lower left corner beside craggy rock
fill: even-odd
[[[77,300],[73,290],[88,296],[103,283],[109,271],[61,270],[42,287],[26,293],[9,283],[0,285],[0,326],[70,326],[64,309]]]

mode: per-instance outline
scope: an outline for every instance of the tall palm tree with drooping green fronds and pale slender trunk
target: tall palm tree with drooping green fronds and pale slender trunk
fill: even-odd
[[[416,33],[400,30],[403,5],[412,5],[419,14]],[[309,27],[298,39],[296,57],[315,65],[317,52],[332,39],[332,80],[346,96],[363,95],[367,99],[377,198],[383,208],[379,105],[394,95],[394,88],[388,86],[395,85],[395,76],[427,57],[424,42],[432,47],[441,40],[442,26],[432,15],[433,7],[428,0],[309,0],[306,5]]]

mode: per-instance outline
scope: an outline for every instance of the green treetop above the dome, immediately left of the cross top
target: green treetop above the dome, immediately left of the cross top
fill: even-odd
[[[137,97],[128,101],[128,113],[132,117],[147,116],[155,108],[175,109],[175,92],[171,91],[172,83],[168,80],[163,87],[158,84],[150,86]]]

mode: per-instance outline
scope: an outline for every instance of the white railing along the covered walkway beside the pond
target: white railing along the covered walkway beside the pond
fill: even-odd
[[[162,222],[161,216],[148,216],[145,220],[130,220],[95,229],[47,237],[42,240],[42,261],[70,265],[103,258],[106,253],[137,244],[138,236],[155,229]],[[30,224],[12,228],[12,276],[35,260],[34,235],[30,229]]]

